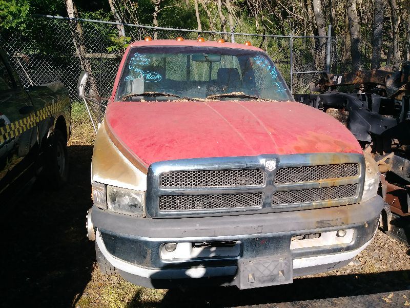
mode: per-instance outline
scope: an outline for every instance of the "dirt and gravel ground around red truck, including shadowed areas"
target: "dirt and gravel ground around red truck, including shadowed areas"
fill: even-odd
[[[86,122],[77,124],[69,142],[67,186],[50,191],[37,183],[4,212],[0,306],[267,307],[403,290],[410,298],[410,251],[380,230],[352,264],[289,285],[243,291],[236,287],[151,290],[100,274],[94,242],[88,241],[85,228],[86,211],[92,206],[93,133]],[[408,305],[410,300],[403,297],[400,306]]]

